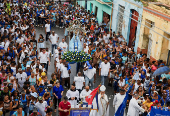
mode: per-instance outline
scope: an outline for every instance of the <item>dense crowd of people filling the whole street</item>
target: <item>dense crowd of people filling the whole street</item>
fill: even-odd
[[[67,28],[75,19],[86,31],[85,37],[84,33],[78,36],[92,60],[77,63],[71,80],[71,67],[62,54],[68,51],[66,41],[73,33],[68,34]],[[36,27],[45,28],[46,37],[44,32],[37,35]],[[64,28],[65,38],[51,31],[52,27]],[[142,51],[137,54],[134,44],[129,47],[126,38],[109,27],[109,19],[98,23],[93,12],[78,4],[1,0],[0,116],[51,116],[57,110],[60,116],[68,116],[70,108],[87,105],[85,99],[95,89],[96,80],[102,85],[98,116],[109,116],[105,86],[113,88],[111,109],[115,112],[129,88],[124,115],[146,116],[151,108],[170,111],[170,74],[152,76],[165,66],[163,61],[151,61]],[[55,70],[47,77],[51,60]]]

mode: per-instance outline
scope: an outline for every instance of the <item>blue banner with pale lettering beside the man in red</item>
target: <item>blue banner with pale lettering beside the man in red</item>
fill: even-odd
[[[70,110],[70,116],[89,116],[90,108],[73,108]]]

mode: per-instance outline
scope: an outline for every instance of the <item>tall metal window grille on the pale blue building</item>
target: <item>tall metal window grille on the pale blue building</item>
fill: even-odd
[[[125,11],[125,7],[119,5],[119,13],[118,13],[118,23],[117,23],[117,32],[122,34],[122,23],[123,23],[123,15]]]

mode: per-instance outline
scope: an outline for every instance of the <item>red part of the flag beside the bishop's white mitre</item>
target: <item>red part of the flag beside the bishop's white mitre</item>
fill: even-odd
[[[98,94],[98,90],[99,90],[99,88],[100,88],[100,85],[96,88],[96,89],[94,89],[91,93],[90,93],[90,95],[88,96],[88,97],[86,97],[86,102],[88,103],[88,105],[92,105],[92,102],[93,102],[93,99],[94,99],[94,97],[96,96],[96,94]],[[98,97],[98,96],[97,96]]]

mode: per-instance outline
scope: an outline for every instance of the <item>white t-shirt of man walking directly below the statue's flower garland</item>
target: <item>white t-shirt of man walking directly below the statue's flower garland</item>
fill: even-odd
[[[85,82],[84,77],[74,77],[74,82],[76,85],[76,89],[81,89],[83,87],[83,83]]]

